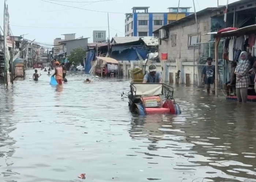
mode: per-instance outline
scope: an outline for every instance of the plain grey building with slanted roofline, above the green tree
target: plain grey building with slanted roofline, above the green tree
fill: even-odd
[[[59,44],[63,45],[63,52],[66,52],[67,55],[75,48],[83,48],[84,50],[88,49],[88,38],[82,39],[74,39],[74,40],[65,40],[59,42]]]

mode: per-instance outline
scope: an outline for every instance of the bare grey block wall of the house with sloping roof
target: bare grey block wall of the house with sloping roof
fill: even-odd
[[[211,32],[210,15],[199,16],[198,24],[200,42],[209,41],[211,36],[203,34]],[[161,53],[168,53],[168,60],[171,62],[193,62],[193,46],[188,46],[188,37],[192,34],[197,34],[195,20],[171,27],[168,39],[161,40],[161,44],[159,43],[159,55]],[[174,47],[172,47],[171,35],[176,35],[176,46]],[[198,48],[195,48],[195,59],[199,59]]]

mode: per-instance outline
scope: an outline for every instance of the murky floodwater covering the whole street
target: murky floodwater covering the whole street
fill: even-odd
[[[0,85],[1,182],[256,181],[254,103],[180,85],[181,115],[138,117],[121,98],[129,80],[68,73],[56,87],[33,72]]]

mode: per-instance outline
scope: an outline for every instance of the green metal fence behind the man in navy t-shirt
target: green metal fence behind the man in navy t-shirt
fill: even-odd
[[[213,59],[213,64],[215,63],[215,41],[197,43],[194,44],[194,71],[193,80],[195,86],[202,86],[203,78],[203,68],[207,64],[207,58],[211,57]],[[227,78],[229,78],[228,65],[223,59],[223,48],[224,41],[220,41],[218,47],[218,68],[219,68],[219,88],[223,88],[223,84],[226,83]]]

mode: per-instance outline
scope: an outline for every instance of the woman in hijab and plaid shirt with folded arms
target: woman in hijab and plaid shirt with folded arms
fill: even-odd
[[[237,77],[236,91],[238,102],[247,102],[247,89],[249,87],[249,70],[250,63],[248,61],[248,55],[246,51],[242,51],[239,56],[239,62],[237,64],[235,74]]]

